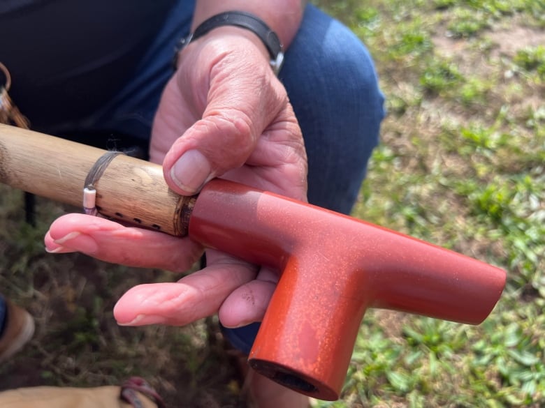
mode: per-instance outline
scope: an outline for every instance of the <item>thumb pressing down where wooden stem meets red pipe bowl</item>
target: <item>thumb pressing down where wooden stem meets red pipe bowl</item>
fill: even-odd
[[[245,59],[227,53],[215,61],[206,97],[199,98],[206,101],[201,119],[173,143],[163,160],[170,188],[193,195],[210,179],[247,162],[263,130],[288,105],[284,87],[263,61],[259,50]]]

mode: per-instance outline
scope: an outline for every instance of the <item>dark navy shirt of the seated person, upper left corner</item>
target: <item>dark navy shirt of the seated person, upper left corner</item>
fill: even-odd
[[[92,114],[122,89],[175,0],[2,0],[0,62],[33,128]]]

